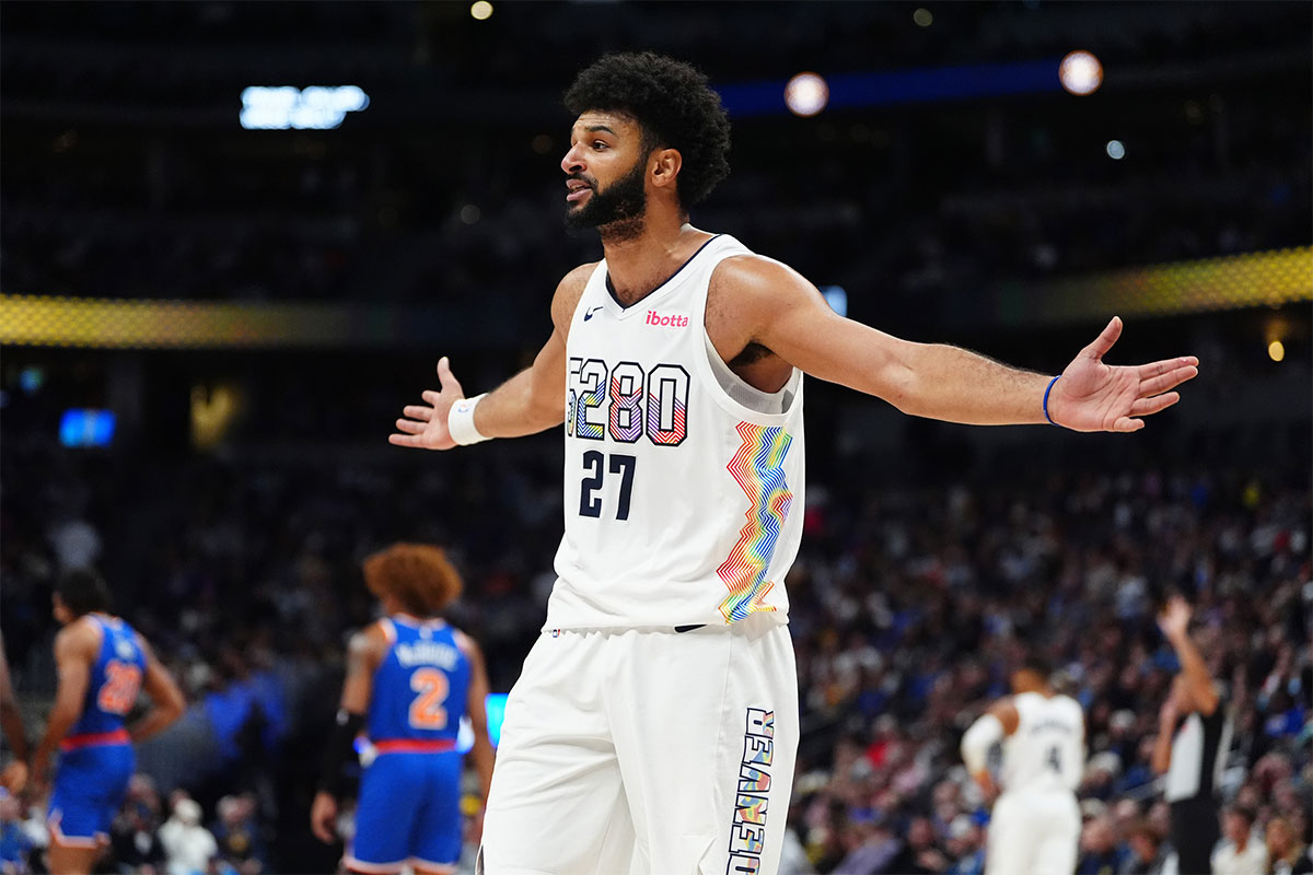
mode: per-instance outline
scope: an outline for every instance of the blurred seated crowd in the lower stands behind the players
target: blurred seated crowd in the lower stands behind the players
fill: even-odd
[[[79,457],[7,434],[0,615],[20,693],[53,691],[50,581],[92,563],[190,701],[140,749],[110,871],[332,868],[307,829],[315,752],[344,636],[373,611],[356,563],[385,542],[450,547],[467,577],[452,619],[482,641],[494,690],[509,687],[561,521],[555,442],[529,441],[537,458],[508,446],[322,466]],[[978,875],[987,804],[958,739],[1037,648],[1087,714],[1079,872],[1157,875],[1149,753],[1175,665],[1154,611],[1170,592],[1195,605],[1236,725],[1228,836],[1267,849],[1251,871],[1288,871],[1278,858],[1305,853],[1313,791],[1306,464],[1146,467],[1107,447],[1043,475],[1014,467],[810,484],[788,581],[804,741],[785,871]],[[42,800],[21,802],[0,809],[9,859],[41,834],[22,821],[39,824]]]

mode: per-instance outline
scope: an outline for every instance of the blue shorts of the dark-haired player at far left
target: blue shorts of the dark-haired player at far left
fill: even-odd
[[[62,753],[47,817],[53,840],[68,847],[106,844],[135,766],[137,753],[130,744]]]

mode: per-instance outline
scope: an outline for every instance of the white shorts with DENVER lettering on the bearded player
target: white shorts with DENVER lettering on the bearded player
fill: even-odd
[[[486,875],[775,875],[798,693],[769,617],[544,632],[511,690]]]

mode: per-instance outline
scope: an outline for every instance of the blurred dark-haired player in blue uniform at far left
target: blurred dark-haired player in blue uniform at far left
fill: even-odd
[[[160,732],[183,715],[183,693],[146,640],[109,614],[109,588],[95,571],[66,572],[55,586],[54,615],[59,686],[46,732],[32,760],[43,781],[58,746],[59,769],[50,796],[50,871],[89,872],[109,844],[109,828],[127,792],[137,757],[134,741]],[[146,690],[154,707],[130,728],[125,718]]]

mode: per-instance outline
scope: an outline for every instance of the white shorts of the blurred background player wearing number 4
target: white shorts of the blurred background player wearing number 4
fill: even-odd
[[[985,875],[1071,875],[1079,842],[1075,794],[1006,791],[990,817]]]

